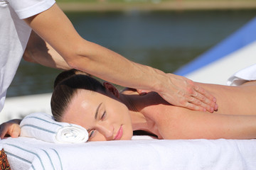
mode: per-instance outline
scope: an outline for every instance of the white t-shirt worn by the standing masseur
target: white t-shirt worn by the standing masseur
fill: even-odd
[[[55,0],[0,0],[0,111],[31,33],[22,19],[53,4]]]

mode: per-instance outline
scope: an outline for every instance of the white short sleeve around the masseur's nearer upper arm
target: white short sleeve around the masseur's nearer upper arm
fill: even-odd
[[[55,4],[55,0],[7,0],[18,18],[24,19],[46,11]]]

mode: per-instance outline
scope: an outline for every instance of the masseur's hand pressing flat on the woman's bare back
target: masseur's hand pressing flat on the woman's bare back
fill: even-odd
[[[175,74],[166,75],[169,77],[169,84],[168,82],[163,84],[165,87],[159,94],[169,103],[193,111],[213,113],[218,109],[216,98],[195,82]]]

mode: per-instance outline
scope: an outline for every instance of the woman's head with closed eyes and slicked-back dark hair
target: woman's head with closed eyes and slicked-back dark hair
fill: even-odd
[[[118,97],[112,84],[73,75],[55,86],[50,104],[55,120],[81,125],[91,141],[130,140],[129,110]]]

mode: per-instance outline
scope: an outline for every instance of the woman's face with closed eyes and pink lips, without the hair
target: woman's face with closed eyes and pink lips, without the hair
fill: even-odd
[[[78,91],[63,121],[82,125],[92,141],[114,140],[121,127],[125,132],[122,140],[132,137],[132,120],[127,106],[115,98],[92,91]]]

